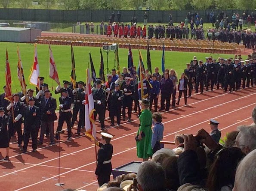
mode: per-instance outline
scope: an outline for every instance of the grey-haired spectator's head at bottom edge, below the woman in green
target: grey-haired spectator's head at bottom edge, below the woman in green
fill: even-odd
[[[137,181],[140,191],[165,191],[165,172],[160,164],[153,161],[139,166]]]

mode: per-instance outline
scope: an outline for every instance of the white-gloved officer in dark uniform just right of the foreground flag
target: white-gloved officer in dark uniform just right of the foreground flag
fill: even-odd
[[[99,122],[101,129],[105,130],[105,100],[106,92],[102,89],[102,80],[96,78],[96,88],[93,89],[93,101],[94,101],[94,120],[96,120],[97,114],[99,114]]]

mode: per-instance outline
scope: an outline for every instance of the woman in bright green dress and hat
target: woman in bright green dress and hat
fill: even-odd
[[[137,156],[147,161],[152,156],[151,139],[152,139],[152,113],[148,109],[150,102],[143,99],[141,103],[142,112],[139,116],[139,130],[137,132]]]

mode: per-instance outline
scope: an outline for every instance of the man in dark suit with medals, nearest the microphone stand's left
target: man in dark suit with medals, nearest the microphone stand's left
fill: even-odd
[[[40,108],[34,106],[35,100],[31,98],[28,100],[28,106],[25,107],[24,112],[24,145],[23,152],[27,152],[28,141],[31,135],[33,152],[37,150],[37,130],[40,121]]]

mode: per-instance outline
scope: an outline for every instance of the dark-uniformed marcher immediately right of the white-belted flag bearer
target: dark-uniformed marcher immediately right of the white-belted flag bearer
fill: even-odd
[[[74,96],[74,106],[73,106],[73,115],[72,115],[72,121],[71,121],[71,128],[74,127],[74,122],[77,120],[77,114],[79,112],[79,122],[77,125],[77,135],[80,135],[81,127],[84,122],[84,105],[83,100],[85,99],[85,93],[83,89],[83,81],[77,82],[78,88],[75,88],[72,93]]]

